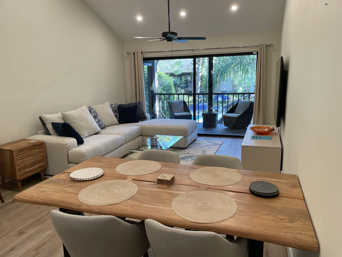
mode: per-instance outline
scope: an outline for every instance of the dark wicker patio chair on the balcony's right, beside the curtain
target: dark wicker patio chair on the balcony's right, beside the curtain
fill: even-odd
[[[238,101],[231,109],[223,114],[223,123],[229,129],[245,129],[253,117],[253,101]]]

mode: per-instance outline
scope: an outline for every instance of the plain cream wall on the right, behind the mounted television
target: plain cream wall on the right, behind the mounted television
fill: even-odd
[[[284,166],[298,175],[320,247],[319,253],[294,250],[294,256],[342,256],[341,48],[342,1],[286,2]]]

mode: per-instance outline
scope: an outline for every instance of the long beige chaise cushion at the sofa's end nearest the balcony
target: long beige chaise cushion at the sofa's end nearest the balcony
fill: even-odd
[[[139,123],[119,124],[119,126],[123,125],[140,126],[142,136],[170,135],[187,137],[197,129],[197,122],[194,120],[154,119],[139,121]]]

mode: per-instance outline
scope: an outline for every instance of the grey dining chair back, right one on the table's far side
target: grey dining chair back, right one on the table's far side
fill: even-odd
[[[224,167],[229,169],[243,170],[239,158],[227,155],[198,155],[193,165]]]

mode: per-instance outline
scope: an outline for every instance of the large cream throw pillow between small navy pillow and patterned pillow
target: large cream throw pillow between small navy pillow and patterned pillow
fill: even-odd
[[[62,112],[62,116],[65,122],[70,123],[82,138],[101,132],[100,127],[94,121],[87,106],[82,106],[69,112]]]

